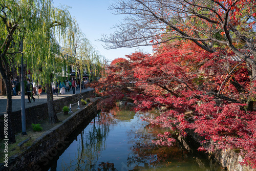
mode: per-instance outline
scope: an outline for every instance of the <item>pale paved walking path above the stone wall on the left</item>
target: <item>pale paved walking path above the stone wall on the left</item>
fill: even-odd
[[[93,89],[82,89],[83,92],[87,92]],[[76,90],[76,94],[80,93],[79,90]],[[61,99],[65,97],[73,96],[73,91],[68,91],[65,94],[58,94],[58,96],[53,93],[53,100]],[[28,95],[25,95],[25,108],[30,108],[31,106],[35,106],[38,104],[43,104],[47,102],[47,95],[42,92],[41,96],[33,96],[35,97],[35,102],[33,102],[33,99],[31,99],[31,103],[28,103]],[[6,104],[7,104],[7,96],[1,96],[0,95],[0,114],[3,114],[6,112]],[[21,109],[21,100],[20,95],[12,96],[12,112],[19,111]]]

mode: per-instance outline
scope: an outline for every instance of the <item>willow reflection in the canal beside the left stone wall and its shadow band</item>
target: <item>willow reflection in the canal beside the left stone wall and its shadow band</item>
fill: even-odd
[[[104,116],[105,117],[105,116]],[[102,115],[94,118],[93,126],[87,132],[81,132],[76,159],[65,163],[65,170],[94,170],[100,152],[106,148],[105,141],[110,131],[110,124],[102,122]]]

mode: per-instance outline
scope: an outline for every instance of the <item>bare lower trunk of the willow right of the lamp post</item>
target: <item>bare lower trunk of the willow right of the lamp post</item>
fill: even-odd
[[[58,118],[54,110],[53,92],[52,92],[51,83],[46,83],[46,94],[47,94],[47,108],[48,108],[48,115],[49,115],[49,123],[57,123]]]

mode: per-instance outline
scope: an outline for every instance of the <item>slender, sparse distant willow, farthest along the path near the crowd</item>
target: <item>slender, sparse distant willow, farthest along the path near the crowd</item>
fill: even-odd
[[[76,70],[76,77],[79,78],[80,100],[81,100],[81,80],[83,71],[87,71],[89,77],[100,76],[102,67],[101,56],[98,51],[95,51],[93,45],[86,38],[86,35],[81,32],[76,20],[73,19],[72,27],[69,28],[68,34],[62,37],[62,43],[66,48],[63,52],[71,58],[72,65]]]

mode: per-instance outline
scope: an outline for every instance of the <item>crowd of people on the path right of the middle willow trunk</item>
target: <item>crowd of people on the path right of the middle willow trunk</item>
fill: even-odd
[[[82,80],[81,82],[81,89],[86,89],[86,84],[88,83],[87,80]],[[53,81],[52,82],[52,89],[53,93],[55,93],[56,96],[59,94],[65,94],[66,91],[73,90],[73,94],[75,94],[75,91],[78,90],[80,82],[77,82],[76,79],[73,81],[71,80],[65,80],[65,81]]]

